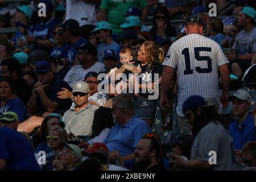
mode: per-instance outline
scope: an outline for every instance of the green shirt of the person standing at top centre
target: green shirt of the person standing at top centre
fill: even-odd
[[[112,26],[114,35],[119,35],[122,28],[119,26],[125,22],[125,14],[130,7],[147,7],[146,0],[102,0],[101,9],[108,10],[108,22]]]

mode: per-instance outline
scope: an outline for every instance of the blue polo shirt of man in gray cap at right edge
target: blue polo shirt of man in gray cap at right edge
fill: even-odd
[[[254,118],[248,114],[239,127],[238,119],[229,125],[229,133],[234,140],[234,148],[241,150],[246,142],[256,141]]]

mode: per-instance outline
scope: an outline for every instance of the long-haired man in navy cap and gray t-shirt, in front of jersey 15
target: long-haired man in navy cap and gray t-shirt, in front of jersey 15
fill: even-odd
[[[213,105],[201,96],[191,96],[183,104],[183,113],[192,124],[195,140],[191,160],[172,155],[173,169],[236,170],[233,139]]]

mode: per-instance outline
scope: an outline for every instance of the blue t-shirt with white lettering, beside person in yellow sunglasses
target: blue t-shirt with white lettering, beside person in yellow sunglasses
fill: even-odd
[[[54,151],[50,147],[48,147],[47,141],[44,140],[43,142],[39,143],[39,145],[36,147],[36,153],[38,154],[39,151],[46,152],[46,164],[43,164],[42,170],[52,171],[53,170],[52,162],[55,159]]]

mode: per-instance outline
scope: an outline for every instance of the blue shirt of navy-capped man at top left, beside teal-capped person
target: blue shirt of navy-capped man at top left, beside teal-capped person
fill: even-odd
[[[48,22],[38,22],[35,24],[35,26],[32,28],[33,35],[35,38],[42,39],[42,40],[52,40],[54,42],[52,32],[54,27],[59,24],[59,22],[52,18],[48,20]],[[44,46],[35,45],[35,50],[43,49],[43,50],[49,50],[49,48]]]

